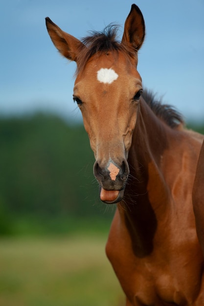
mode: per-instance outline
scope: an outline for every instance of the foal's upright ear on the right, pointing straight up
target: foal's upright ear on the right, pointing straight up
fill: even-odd
[[[125,21],[122,43],[131,44],[136,50],[139,50],[144,41],[144,36],[144,18],[138,6],[133,4]]]

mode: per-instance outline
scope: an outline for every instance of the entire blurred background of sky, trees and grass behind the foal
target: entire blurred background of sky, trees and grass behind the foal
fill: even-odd
[[[0,1],[0,306],[123,305],[104,251],[115,207],[99,201],[72,101],[75,63],[58,54],[45,17],[78,39],[115,22],[121,37],[132,3]],[[204,133],[204,1],[136,4],[144,86]]]

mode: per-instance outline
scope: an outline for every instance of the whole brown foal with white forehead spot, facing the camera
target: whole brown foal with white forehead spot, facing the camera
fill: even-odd
[[[127,306],[204,305],[204,257],[192,206],[202,136],[143,92],[136,70],[145,36],[133,4],[122,41],[109,26],[79,41],[49,18],[52,42],[77,64],[73,99],[95,155],[100,198],[117,203],[106,252]]]

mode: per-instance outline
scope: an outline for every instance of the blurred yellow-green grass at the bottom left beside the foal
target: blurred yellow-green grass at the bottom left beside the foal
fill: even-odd
[[[121,306],[104,235],[0,239],[0,306]]]

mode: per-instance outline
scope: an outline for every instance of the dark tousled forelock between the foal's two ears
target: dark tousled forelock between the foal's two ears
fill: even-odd
[[[121,51],[129,57],[136,56],[136,50],[126,44],[121,44],[117,40],[118,25],[109,24],[102,32],[91,31],[90,36],[82,38],[84,47],[81,49],[79,57],[77,58],[77,73],[84,69],[87,62],[94,54],[101,54],[106,52]]]

